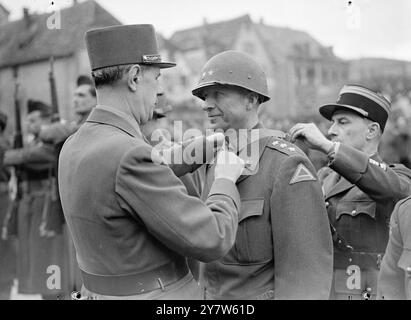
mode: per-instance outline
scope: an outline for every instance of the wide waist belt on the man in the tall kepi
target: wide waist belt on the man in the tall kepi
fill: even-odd
[[[170,262],[154,270],[127,275],[96,275],[81,270],[87,290],[108,296],[131,296],[162,289],[189,272],[185,260]]]

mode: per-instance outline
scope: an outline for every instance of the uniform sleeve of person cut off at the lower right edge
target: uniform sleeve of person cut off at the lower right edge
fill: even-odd
[[[411,197],[400,201],[392,213],[377,298],[411,300]]]

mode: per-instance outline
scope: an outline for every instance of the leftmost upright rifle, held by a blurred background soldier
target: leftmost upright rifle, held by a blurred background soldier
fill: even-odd
[[[13,139],[13,149],[23,148],[23,134],[21,130],[21,112],[19,98],[18,69],[14,68],[14,112],[15,112],[15,133]],[[17,210],[19,201],[22,198],[21,190],[22,170],[20,166],[15,166],[11,170],[10,178],[10,204],[3,221],[2,234],[3,240],[7,240],[9,235],[17,235]],[[10,229],[12,231],[10,231]]]

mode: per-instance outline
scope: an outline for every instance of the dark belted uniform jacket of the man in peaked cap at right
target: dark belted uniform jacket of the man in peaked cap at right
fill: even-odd
[[[411,171],[341,144],[318,176],[336,230],[333,290],[337,295],[375,295],[390,215],[396,202],[411,192]],[[348,271],[357,273],[352,281],[347,281]]]

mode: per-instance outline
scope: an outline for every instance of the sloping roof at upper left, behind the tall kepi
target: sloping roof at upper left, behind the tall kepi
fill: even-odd
[[[94,0],[60,11],[61,29],[49,29],[52,13],[29,14],[0,28],[0,68],[69,56],[85,47],[88,29],[121,24]]]

